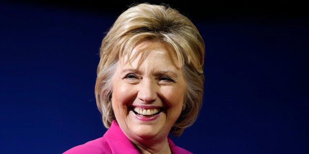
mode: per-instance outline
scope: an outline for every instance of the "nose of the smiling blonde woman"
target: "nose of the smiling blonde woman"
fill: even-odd
[[[143,80],[140,83],[137,98],[145,103],[153,103],[157,99],[158,85],[152,80]]]

